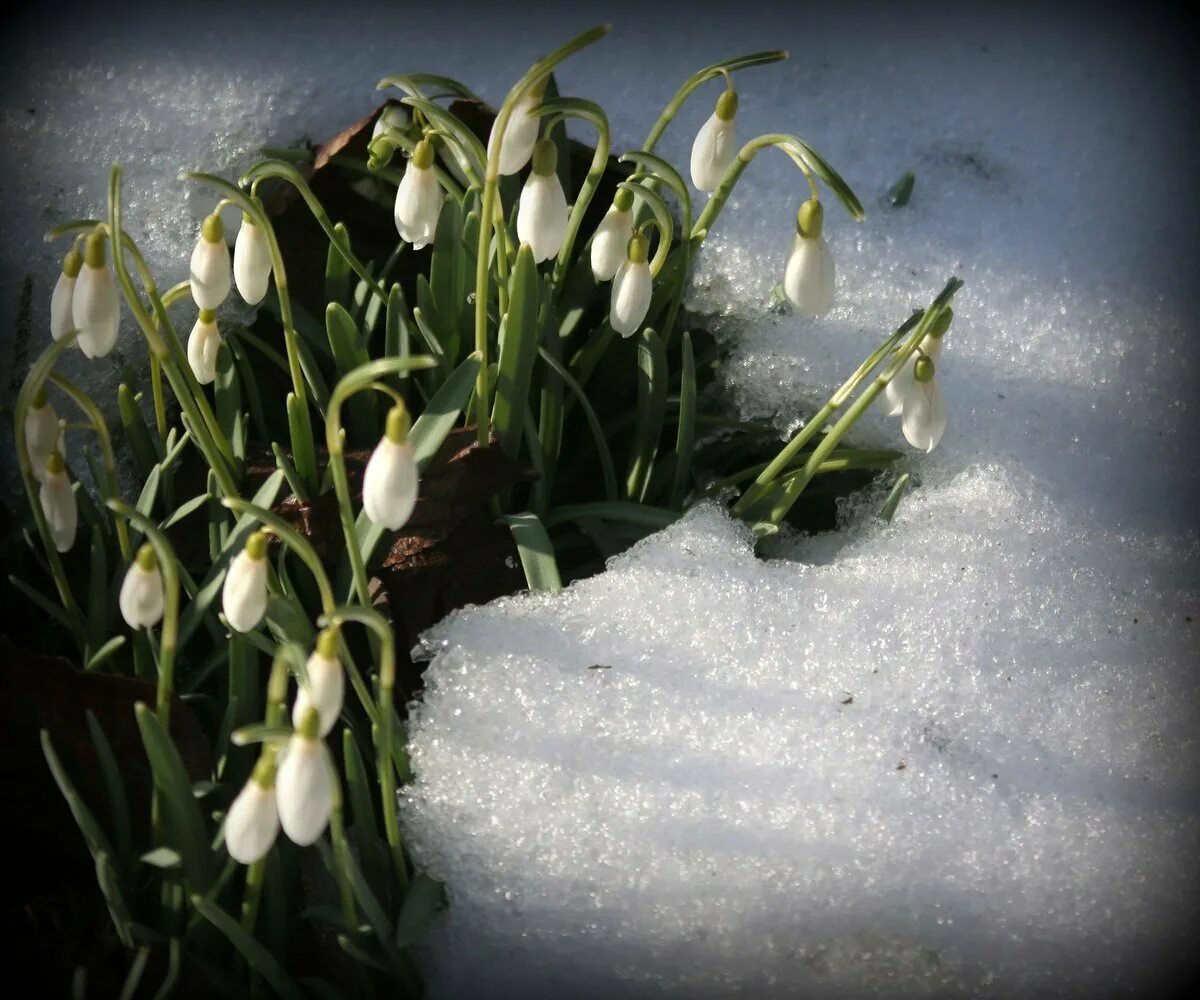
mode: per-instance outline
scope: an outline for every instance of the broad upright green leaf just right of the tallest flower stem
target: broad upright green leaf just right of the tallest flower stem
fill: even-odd
[[[538,353],[538,264],[522,244],[509,282],[509,311],[500,323],[500,357],[492,406],[492,427],[511,459],[521,453],[524,408],[529,397],[533,359]]]

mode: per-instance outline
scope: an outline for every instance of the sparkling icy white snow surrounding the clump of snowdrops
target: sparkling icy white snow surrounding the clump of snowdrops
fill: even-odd
[[[703,508],[564,594],[427,637],[402,814],[452,904],[433,992],[1145,990],[1194,951],[1200,899],[1182,42],[1091,7],[607,6],[613,37],[560,83],[610,110],[617,149],[697,66],[785,47],[738,77],[739,134],[794,128],[869,211],[827,205],[834,311],[773,311],[803,188],[779,154],[751,166],[689,295],[733,348],[726,401],[793,429],[958,274],[950,425],[889,527],[868,498],[762,561]],[[6,32],[0,312],[31,273],[26,349],[48,342],[62,251],[41,233],[102,210],[109,162],[169,287],[215,202],[179,169],[232,176],[263,143],[332,134],[397,70],[498,102],[598,17],[335,7],[92,8]],[[256,24],[270,44],[238,36]],[[718,90],[660,152],[686,162]],[[893,210],[905,169],[916,192]],[[132,373],[73,375],[112,399],[144,357],[127,317],[118,349]],[[898,443],[896,421],[871,414],[857,439]]]

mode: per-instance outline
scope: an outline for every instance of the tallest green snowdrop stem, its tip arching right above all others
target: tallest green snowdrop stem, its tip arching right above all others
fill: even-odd
[[[492,227],[497,216],[497,202],[499,200],[500,182],[500,145],[504,140],[504,132],[509,127],[509,119],[516,110],[517,103],[533,88],[545,79],[551,70],[580,49],[590,46],[608,34],[608,25],[599,25],[582,35],[576,36],[557,52],[535,62],[529,71],[521,77],[504,98],[499,112],[496,114],[496,124],[492,126],[493,140],[487,151],[487,170],[484,175],[484,194],[479,212],[479,247],[475,255],[475,349],[479,352],[481,364],[475,381],[475,425],[479,433],[479,447],[487,448],[488,443],[488,413],[491,413],[490,387],[487,384],[488,367],[488,330],[487,330],[487,274],[488,274],[488,250],[492,242]],[[503,212],[500,228],[503,228]]]

